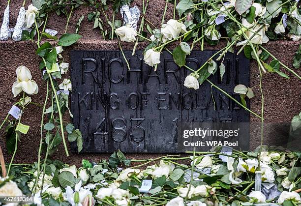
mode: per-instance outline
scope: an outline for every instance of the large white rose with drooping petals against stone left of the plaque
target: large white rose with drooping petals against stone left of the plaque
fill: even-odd
[[[19,66],[16,70],[17,81],[12,86],[12,93],[16,97],[21,91],[27,94],[36,94],[38,86],[35,81],[31,80],[30,70],[26,66]]]

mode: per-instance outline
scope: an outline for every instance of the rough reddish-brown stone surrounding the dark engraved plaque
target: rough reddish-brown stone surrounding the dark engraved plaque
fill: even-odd
[[[23,1],[22,1],[23,2]],[[14,27],[17,19],[19,8],[22,2],[11,2],[10,13],[10,27]],[[29,1],[27,2],[29,4]],[[137,5],[141,9],[142,1],[134,0],[132,5]],[[2,21],[2,14],[6,7],[6,0],[0,0],[0,22]],[[151,23],[160,27],[161,15],[163,14],[165,7],[165,0],[150,0],[147,10],[146,19]],[[173,4],[169,3],[168,11],[166,14],[166,20],[171,19],[173,15]],[[80,7],[73,13],[68,31],[74,32],[78,19],[85,15],[85,19],[81,23],[80,34],[83,38],[71,48],[65,49],[63,57],[66,62],[70,61],[70,50],[119,50],[116,40],[104,41],[100,34],[99,29],[92,29],[93,23],[87,19],[87,14],[93,11],[93,8]],[[109,18],[111,13],[108,12]],[[121,20],[120,15],[117,15],[117,19]],[[57,16],[51,14],[47,24],[48,29],[56,29],[59,31],[59,36],[63,33],[66,24],[66,17],[64,15]],[[295,51],[298,49],[300,42],[293,42],[289,40],[270,41],[265,46],[276,58],[280,59],[284,64],[292,68],[292,59]],[[124,50],[131,50],[133,43],[122,43]],[[144,49],[146,44],[144,42],[138,45],[139,49]],[[205,50],[219,50],[225,46],[225,42],[221,42],[217,46],[206,45]],[[170,46],[173,48],[173,45]],[[195,49],[199,49],[198,46]],[[34,42],[22,41],[14,42],[11,39],[5,42],[0,42],[0,69],[2,71],[0,75],[0,119],[4,119],[11,106],[17,101],[19,97],[14,98],[11,92],[11,86],[16,79],[15,71],[20,65],[27,66],[31,73],[33,80],[35,80],[39,86],[39,93],[32,96],[32,101],[39,104],[43,104],[46,94],[46,85],[42,81],[42,73],[38,68],[39,57],[35,55],[36,45]],[[282,68],[282,71],[288,74],[291,79],[287,80],[279,77],[275,74],[265,74],[263,78],[263,90],[265,95],[265,121],[266,122],[290,122],[292,117],[299,114],[301,111],[301,84],[300,80],[291,75],[289,72]],[[296,71],[301,75],[301,70]],[[67,74],[69,76],[70,73]],[[67,78],[67,77],[66,77]],[[251,87],[259,84],[259,70],[255,61],[251,62],[250,70],[250,82]],[[260,114],[261,110],[261,97],[259,87],[254,89],[255,97],[251,100],[251,110]],[[32,163],[37,160],[37,150],[40,139],[40,120],[41,120],[41,108],[30,105],[22,118],[23,122],[30,125],[30,131],[27,135],[21,136],[21,142],[18,145],[18,151],[15,157],[15,162],[18,163]],[[258,122],[259,119],[250,115],[251,122]],[[251,135],[250,147],[254,149],[259,145],[260,136],[257,131],[260,127],[255,127],[256,131]],[[273,145],[273,143],[279,141],[277,137],[273,137],[265,140],[265,143]],[[8,162],[11,155],[7,154],[5,149],[5,137],[3,130],[0,132],[0,143],[4,150],[5,161]],[[69,147],[70,150],[70,147]],[[159,154],[128,154],[128,157],[155,157]],[[93,161],[98,161],[101,158],[108,158],[109,154],[74,154],[71,153],[69,158],[65,157],[63,147],[52,157],[53,159],[60,159],[70,164],[80,164],[82,158],[86,158]]]

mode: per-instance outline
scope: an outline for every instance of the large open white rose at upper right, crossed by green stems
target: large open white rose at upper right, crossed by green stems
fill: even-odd
[[[256,21],[254,21],[252,24],[249,24],[246,19],[242,19],[242,25],[249,30],[245,31],[245,35],[247,36],[248,39],[250,39],[250,42],[252,44],[263,44],[267,43],[269,41],[268,36],[266,36],[266,30],[268,30],[268,27],[265,26],[263,29],[259,30],[262,25],[257,24]],[[256,33],[255,36],[251,39],[253,36],[254,32]],[[241,41],[237,44],[237,46],[242,46],[248,44],[248,40]]]

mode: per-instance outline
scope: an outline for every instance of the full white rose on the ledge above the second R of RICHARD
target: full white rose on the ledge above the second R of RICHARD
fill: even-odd
[[[187,32],[185,25],[174,19],[168,20],[166,24],[162,25],[161,29],[161,34],[168,40],[178,38],[180,33],[185,32]]]

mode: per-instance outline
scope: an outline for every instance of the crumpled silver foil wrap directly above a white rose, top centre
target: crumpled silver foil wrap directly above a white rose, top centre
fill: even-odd
[[[130,8],[127,4],[120,7],[120,14],[123,18],[124,25],[131,25],[132,28],[137,29],[137,23],[140,17],[140,10],[137,6]]]

